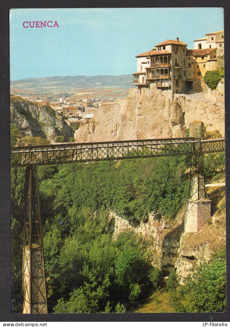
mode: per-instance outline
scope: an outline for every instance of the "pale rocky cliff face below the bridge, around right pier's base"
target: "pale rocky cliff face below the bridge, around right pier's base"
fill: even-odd
[[[173,219],[149,215],[148,222],[141,221],[138,227],[132,227],[129,222],[114,213],[114,238],[126,229],[133,230],[149,241],[151,261],[168,274],[176,270],[178,280],[183,283],[196,265],[209,262],[215,250],[225,246],[225,214],[218,209],[224,204],[224,187],[215,187],[210,193],[213,196],[212,217],[197,233],[184,232],[184,210]],[[213,194],[213,195],[212,195]]]

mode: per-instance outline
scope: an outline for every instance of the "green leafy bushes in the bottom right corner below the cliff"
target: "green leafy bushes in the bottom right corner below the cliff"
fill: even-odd
[[[226,254],[221,250],[211,263],[197,267],[184,285],[173,284],[171,299],[176,312],[224,312],[226,310]]]

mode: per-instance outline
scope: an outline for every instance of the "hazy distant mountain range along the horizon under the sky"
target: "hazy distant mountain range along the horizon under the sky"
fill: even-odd
[[[41,78],[24,78],[10,81],[11,89],[88,89],[133,86],[133,75],[97,75],[97,76],[51,76]]]

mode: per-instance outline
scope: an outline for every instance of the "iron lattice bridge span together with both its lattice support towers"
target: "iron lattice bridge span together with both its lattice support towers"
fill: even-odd
[[[47,313],[43,236],[37,165],[160,156],[191,156],[190,198],[205,198],[203,153],[224,151],[224,140],[200,138],[133,140],[11,148],[11,166],[26,166],[27,214],[24,228],[23,312]]]

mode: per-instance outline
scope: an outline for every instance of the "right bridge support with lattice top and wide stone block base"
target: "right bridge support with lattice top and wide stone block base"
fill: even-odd
[[[190,165],[190,198],[185,199],[185,232],[199,232],[211,216],[211,200],[206,199],[203,177],[203,155],[192,155]]]

